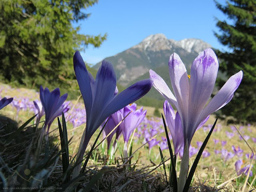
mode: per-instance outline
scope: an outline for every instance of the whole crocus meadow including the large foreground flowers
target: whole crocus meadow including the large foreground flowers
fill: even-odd
[[[81,98],[68,101],[68,95],[61,96],[59,88],[48,90],[41,86],[37,90],[39,92],[36,92],[2,84],[1,115],[18,122],[13,132],[6,130],[6,122],[0,125],[2,166],[10,167],[5,162],[8,154],[11,153],[11,157],[16,158],[17,152],[12,151],[10,146],[10,141],[15,140],[15,136],[25,132],[25,127],[26,130],[33,128],[37,134],[31,145],[24,146],[31,153],[29,151],[24,159],[12,162],[12,168],[0,169],[0,184],[7,189],[10,182],[4,178],[10,178],[11,173],[19,173],[20,176],[21,168],[18,168],[22,165],[23,175],[26,175],[21,174],[23,180],[30,182],[31,177],[37,180],[24,186],[34,187],[34,190],[38,186],[47,186],[48,189],[58,186],[63,191],[82,190],[83,187],[85,191],[130,191],[136,175],[130,176],[122,185],[118,185],[121,181],[118,178],[114,180],[114,176],[113,180],[99,184],[100,178],[110,172],[108,168],[121,167],[124,175],[130,170],[134,173],[140,170],[140,175],[143,173],[147,176],[141,182],[142,191],[168,191],[170,188],[173,191],[188,191],[186,188],[190,186],[190,182],[192,186],[204,186],[204,189],[212,188],[213,191],[216,188],[230,191],[253,190],[256,186],[255,126],[227,125],[225,120],[218,120],[216,123],[215,116],[211,115],[230,102],[242,80],[242,72],[232,76],[227,85],[220,89],[220,94],[216,94],[215,99],[208,102],[215,82],[212,73],[216,79],[218,71],[215,54],[210,49],[202,52],[192,65],[191,76],[186,73],[182,64],[180,58],[173,54],[169,68],[174,78],[171,80],[175,96],[162,78],[152,70],[151,79],[137,82],[118,94],[116,80],[112,77],[112,65],[103,61],[94,80],[87,72],[79,52],[74,55],[74,70],[84,103]],[[198,88],[198,82],[202,79],[205,82]],[[177,82],[183,86],[175,84]],[[152,109],[136,106],[134,103],[151,86],[166,98],[163,104],[164,121],[152,116],[149,112]],[[194,92],[189,86],[194,88]],[[200,94],[202,87],[204,95]],[[205,93],[208,89],[210,91]],[[108,95],[110,91],[112,95]],[[190,110],[186,111],[188,106]],[[34,118],[27,122],[32,116]],[[62,121],[58,122],[56,117],[60,117]],[[96,138],[98,135],[100,138]],[[51,148],[50,141],[53,141],[52,146],[59,144],[57,146],[61,151],[58,156],[62,154],[60,162],[56,155],[53,155],[54,158],[49,155],[53,153],[52,150],[48,151]],[[30,156],[32,157],[29,158]],[[26,164],[28,160],[29,163]],[[44,166],[41,167],[41,164]],[[102,166],[104,167],[101,169]],[[33,169],[40,171],[32,172]],[[145,170],[148,172],[145,173]],[[60,172],[63,174],[59,178],[52,176]],[[138,175],[137,177],[139,178]],[[149,180],[158,180],[158,186],[153,181],[150,185]],[[18,183],[21,183],[20,180]],[[101,185],[107,186],[102,189]]]

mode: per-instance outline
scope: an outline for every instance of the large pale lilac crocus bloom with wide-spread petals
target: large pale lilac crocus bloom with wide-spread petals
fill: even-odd
[[[169,60],[169,74],[175,96],[164,80],[150,70],[154,88],[178,110],[183,126],[184,144],[188,142],[188,146],[200,123],[230,102],[242,80],[243,73],[240,71],[230,77],[208,103],[216,81],[218,66],[216,55],[208,48],[194,60],[190,70],[191,77],[188,78],[180,57],[176,53],[172,54]]]

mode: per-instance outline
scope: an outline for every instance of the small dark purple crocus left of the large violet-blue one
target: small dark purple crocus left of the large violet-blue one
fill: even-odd
[[[45,124],[42,132],[42,136],[45,134],[47,127],[47,132],[49,132],[50,126],[53,120],[60,116],[62,112],[67,112],[69,110],[68,102],[64,101],[68,97],[68,94],[64,94],[60,97],[60,89],[56,88],[52,92],[48,88],[43,88],[40,86],[40,100],[45,112]]]

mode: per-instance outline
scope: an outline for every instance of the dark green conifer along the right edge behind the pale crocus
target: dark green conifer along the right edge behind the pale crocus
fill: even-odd
[[[239,121],[255,122],[256,116],[256,0],[230,0],[226,6],[216,6],[232,23],[218,20],[221,33],[215,32],[219,42],[230,52],[217,50],[220,70],[228,77],[242,70],[243,80],[232,101],[222,109],[222,114],[234,116]],[[221,87],[224,80],[217,80]]]

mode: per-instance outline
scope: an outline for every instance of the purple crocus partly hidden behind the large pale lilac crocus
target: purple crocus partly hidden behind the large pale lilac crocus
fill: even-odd
[[[164,115],[166,117],[166,122],[168,125],[168,128],[170,130],[170,133],[172,135],[172,142],[174,145],[174,154],[178,154],[180,149],[184,146],[184,137],[183,137],[183,128],[182,128],[182,122],[181,118],[178,112],[176,112],[176,115],[174,113],[174,110],[172,106],[168,103],[167,100],[164,102]],[[204,125],[204,123],[208,120],[209,116],[206,117],[206,119],[198,125],[198,130],[200,127]]]

